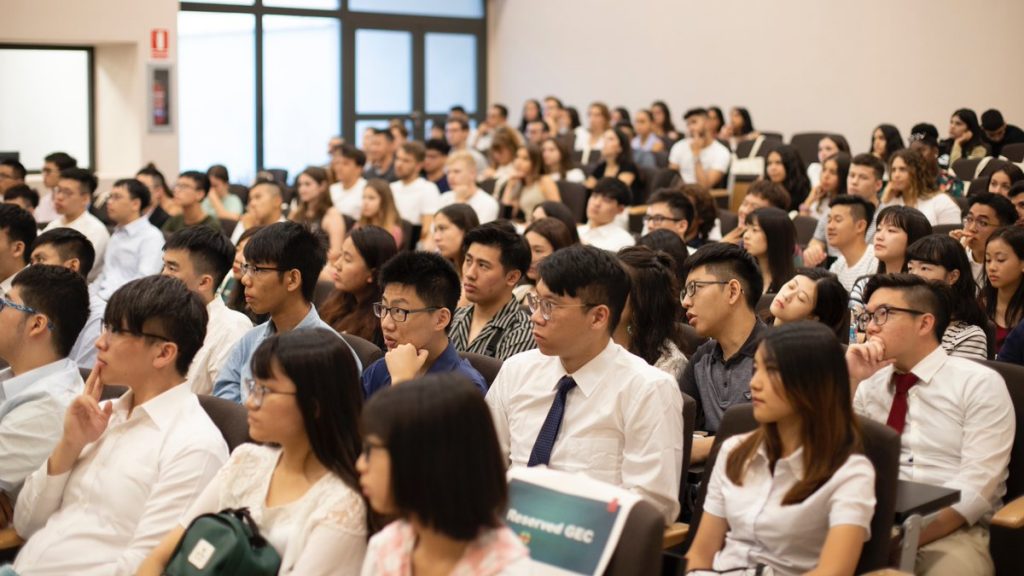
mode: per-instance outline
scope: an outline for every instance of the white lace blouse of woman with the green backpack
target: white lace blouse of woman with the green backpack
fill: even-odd
[[[368,539],[362,498],[328,472],[298,500],[267,506],[280,456],[280,448],[239,446],[184,516],[182,526],[200,515],[247,507],[260,533],[281,554],[279,574],[359,574]]]

